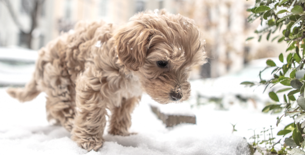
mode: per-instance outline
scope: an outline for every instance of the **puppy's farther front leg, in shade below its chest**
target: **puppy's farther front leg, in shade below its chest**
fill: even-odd
[[[130,135],[128,129],[131,126],[131,113],[140,97],[122,98],[120,107],[113,107],[108,133],[112,135]]]

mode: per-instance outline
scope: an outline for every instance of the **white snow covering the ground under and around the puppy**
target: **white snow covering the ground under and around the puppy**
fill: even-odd
[[[0,88],[0,154],[249,154],[247,142],[252,142],[249,138],[253,136],[249,129],[259,132],[272,125],[276,135],[290,121],[284,118],[279,127],[275,127],[276,117],[282,113],[261,113],[264,104],[270,102],[268,91],[262,94],[263,87],[253,91],[255,87],[239,85],[242,81],[258,81],[257,75],[264,68],[265,61],[254,61],[245,70],[232,75],[192,81],[192,97],[188,101],[160,105],[160,110],[166,113],[183,113],[172,107],[187,109],[187,113],[196,115],[196,125],[180,124],[166,128],[149,107],[153,101],[148,95],[143,95],[132,114],[130,128],[131,132],[138,134],[113,136],[107,134],[106,128],[105,142],[98,152],[81,149],[63,127],[48,124],[44,93],[33,101],[19,103],[5,93],[5,87]],[[248,100],[241,101],[236,95]],[[203,98],[198,99],[198,96]],[[212,103],[211,98],[221,99],[221,104]],[[232,124],[236,124],[237,130],[233,133]]]

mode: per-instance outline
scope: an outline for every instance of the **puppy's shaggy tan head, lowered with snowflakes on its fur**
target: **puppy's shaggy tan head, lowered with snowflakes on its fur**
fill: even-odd
[[[154,100],[166,104],[188,99],[189,72],[206,62],[193,20],[164,10],[138,13],[114,38],[120,61],[136,71]]]

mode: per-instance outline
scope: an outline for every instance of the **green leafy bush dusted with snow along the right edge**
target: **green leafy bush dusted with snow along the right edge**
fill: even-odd
[[[266,68],[260,71],[259,82],[243,82],[241,84],[248,86],[264,85],[265,90],[274,85],[282,85],[282,89],[273,90],[269,92],[269,97],[275,104],[267,105],[262,111],[282,111],[284,114],[278,118],[276,124],[278,125],[282,117],[289,116],[292,123],[277,133],[281,138],[281,149],[269,149],[267,152],[274,152],[278,154],[300,155],[305,154],[303,151],[305,146],[305,75],[303,72],[305,64],[305,0],[257,0],[253,8],[247,9],[251,14],[248,21],[259,18],[261,20],[261,28],[255,33],[259,35],[258,41],[261,40],[262,35],[267,33],[267,40],[277,40],[278,42],[287,42],[288,52],[287,57],[284,58],[280,54],[278,59],[280,63],[274,63],[273,60],[266,61]],[[272,36],[277,30],[282,33]],[[272,34],[272,35],[271,35]],[[249,37],[246,41],[253,39]],[[285,61],[284,61],[285,59]],[[267,68],[272,68],[272,78],[262,79],[261,73]],[[264,91],[265,91],[264,90]],[[282,97],[278,97],[282,93]],[[284,93],[284,94],[283,94]],[[271,128],[272,129],[272,128]],[[271,134],[272,135],[272,134]],[[284,136],[286,137],[284,139]],[[266,143],[266,135],[264,130],[264,142]],[[272,142],[274,143],[274,142]],[[255,142],[253,145],[256,144]],[[267,143],[266,143],[267,144]],[[277,144],[277,143],[275,143]]]

